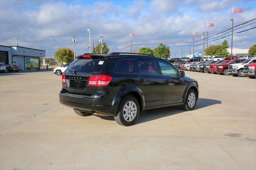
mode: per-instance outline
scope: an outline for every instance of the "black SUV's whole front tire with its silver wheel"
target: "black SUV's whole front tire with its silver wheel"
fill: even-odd
[[[186,100],[184,105],[182,105],[182,109],[185,111],[192,111],[196,107],[196,102],[197,102],[197,95],[196,91],[194,89],[189,89]]]

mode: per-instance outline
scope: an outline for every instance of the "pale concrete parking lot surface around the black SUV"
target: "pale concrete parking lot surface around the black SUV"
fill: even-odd
[[[59,103],[51,71],[0,75],[0,169],[256,169],[256,79],[196,73],[194,111],[144,111],[131,127]]]

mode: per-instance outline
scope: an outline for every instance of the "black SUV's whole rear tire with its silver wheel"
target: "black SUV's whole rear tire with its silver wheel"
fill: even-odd
[[[131,110],[133,113],[129,113]],[[121,100],[114,119],[119,125],[128,127],[136,122],[139,114],[140,104],[138,100],[133,96],[126,96]]]

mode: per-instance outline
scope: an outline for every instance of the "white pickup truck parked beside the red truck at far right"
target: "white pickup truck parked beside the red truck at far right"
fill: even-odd
[[[246,59],[242,63],[228,65],[228,73],[233,76],[245,77],[244,65],[256,63],[256,59]]]

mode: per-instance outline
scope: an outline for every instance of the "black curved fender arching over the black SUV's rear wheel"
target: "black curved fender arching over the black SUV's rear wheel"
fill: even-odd
[[[114,97],[114,99],[112,101],[112,106],[119,105],[122,97],[126,93],[128,93],[128,92],[135,92],[135,93],[138,93],[138,95],[140,95],[140,99],[142,101],[142,109],[141,109],[141,111],[143,111],[144,108],[145,108],[144,94],[143,94],[142,90],[138,86],[136,86],[136,85],[126,85],[126,86],[122,87],[122,89],[120,89],[116,93],[116,95],[115,95],[115,97]]]

